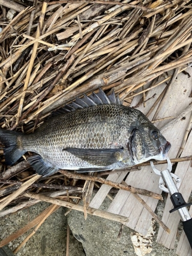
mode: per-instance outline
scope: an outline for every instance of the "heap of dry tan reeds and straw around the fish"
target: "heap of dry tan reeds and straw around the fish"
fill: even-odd
[[[192,61],[192,4],[189,1],[40,0],[30,7],[21,0],[0,0],[0,5],[3,20],[6,20],[9,8],[16,11],[11,20],[1,23],[0,32],[0,115],[4,129],[33,132],[53,110],[83,93],[97,91],[98,87],[106,92],[114,89],[125,105],[130,105],[134,96],[139,94],[143,95],[142,102],[146,102],[146,93],[166,81],[168,86],[148,116],[161,100],[163,104],[163,97],[170,90],[172,81]],[[169,73],[160,80],[168,71],[174,71],[174,74]],[[151,86],[146,88],[150,81],[153,81]],[[162,127],[162,131],[191,109],[189,105],[181,115]],[[178,154],[183,150],[190,127],[191,120]],[[191,156],[172,161],[186,160],[191,160]],[[2,164],[4,166],[4,161]],[[94,181],[143,193],[123,184],[109,184],[99,177],[64,171],[47,179],[35,176],[25,180],[33,174],[26,161],[9,169],[4,167],[4,172],[0,174],[1,209],[11,205],[12,201],[17,205],[9,213],[29,207],[31,204],[27,203],[27,197],[36,198],[34,203],[38,200],[58,200],[46,196],[42,198],[34,191],[51,193],[52,189],[56,189],[59,195],[69,189],[71,194],[67,194],[68,199],[72,200],[70,197],[76,196],[73,193],[82,193],[83,184],[88,179],[90,181],[83,194],[84,208],[76,205],[85,215],[106,214],[89,208],[89,193]],[[76,186],[76,183],[82,184]],[[160,198],[150,191],[145,192]],[[68,203],[70,207],[71,202],[60,201],[60,205]],[[9,213],[4,211],[4,216]],[[127,221],[119,216],[108,217],[121,223]]]

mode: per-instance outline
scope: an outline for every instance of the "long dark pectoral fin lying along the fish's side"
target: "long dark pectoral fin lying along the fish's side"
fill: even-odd
[[[87,148],[64,148],[63,151],[67,151],[76,157],[89,162],[93,165],[108,166],[118,162],[123,154],[122,148],[103,148],[99,150],[87,149]]]

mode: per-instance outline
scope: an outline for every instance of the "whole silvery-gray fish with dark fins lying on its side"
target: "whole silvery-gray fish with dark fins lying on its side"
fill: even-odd
[[[165,160],[171,146],[142,112],[100,88],[53,112],[32,134],[0,129],[0,141],[6,165],[33,152],[27,160],[43,177],[59,169],[98,172]]]

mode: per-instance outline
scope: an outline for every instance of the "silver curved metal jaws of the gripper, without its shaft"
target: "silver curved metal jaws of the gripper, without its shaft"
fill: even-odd
[[[164,171],[160,171],[158,170],[155,166],[154,166],[154,163],[151,161],[151,166],[154,170],[154,172],[161,176],[160,179],[159,179],[159,188],[161,190],[163,190],[164,192],[166,193],[170,193],[169,189],[165,187],[165,182],[163,180],[163,172],[164,172],[164,175],[166,174],[166,172],[168,171],[170,173],[170,175],[172,176],[172,178],[175,180],[175,185],[177,187],[177,189],[179,189],[180,185],[181,185],[181,179],[176,175],[176,174],[173,174],[171,173],[172,171],[172,163],[170,162],[170,159],[168,157],[166,157],[166,161],[167,161],[167,168],[164,170]],[[166,180],[167,176],[165,177],[165,180]]]

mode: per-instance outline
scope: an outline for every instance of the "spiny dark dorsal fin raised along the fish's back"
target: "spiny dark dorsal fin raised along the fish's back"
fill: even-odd
[[[54,111],[48,119],[56,117],[58,115],[66,114],[73,112],[79,109],[89,108],[89,106],[103,105],[103,104],[117,104],[122,105],[122,102],[119,99],[119,95],[115,95],[114,90],[112,93],[107,96],[101,88],[99,88],[98,93],[92,93],[90,96],[83,94],[82,98],[76,98],[71,103],[65,105],[64,107]],[[48,120],[46,119],[46,120]]]

